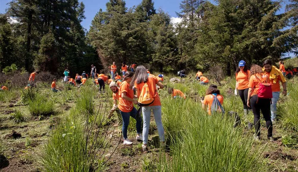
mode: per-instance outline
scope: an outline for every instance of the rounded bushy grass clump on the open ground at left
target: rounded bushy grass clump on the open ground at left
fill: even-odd
[[[49,116],[55,113],[54,102],[40,94],[36,95],[34,100],[28,101],[28,108],[31,115],[33,116],[39,116],[39,115]]]

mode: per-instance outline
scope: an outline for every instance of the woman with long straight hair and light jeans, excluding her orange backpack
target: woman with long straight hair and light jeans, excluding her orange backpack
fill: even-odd
[[[150,94],[154,97],[153,102],[148,106],[142,106],[142,114],[143,114],[143,152],[148,151],[148,132],[150,125],[150,116],[151,111],[153,111],[155,123],[158,130],[159,141],[164,144],[164,128],[162,126],[162,104],[160,102],[160,98],[158,92],[156,91],[156,85],[159,88],[163,89],[164,85],[159,82],[159,80],[154,75],[149,75],[144,66],[140,65],[136,68],[135,75],[131,81],[130,89],[134,86],[136,89],[136,96],[139,98],[142,89],[144,89],[145,83],[148,84]]]

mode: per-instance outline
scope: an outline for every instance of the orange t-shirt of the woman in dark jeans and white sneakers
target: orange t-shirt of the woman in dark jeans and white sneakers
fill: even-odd
[[[121,94],[126,92],[126,96],[134,98],[134,90],[129,89],[129,83],[123,81],[119,89],[119,104],[118,109],[122,112],[130,112],[134,108],[134,103],[122,98]]]

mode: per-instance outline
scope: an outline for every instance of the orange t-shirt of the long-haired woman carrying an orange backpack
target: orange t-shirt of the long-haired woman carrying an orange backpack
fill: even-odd
[[[158,83],[158,79],[154,75],[149,75],[148,76],[148,81],[147,84],[150,89],[150,94],[155,95],[154,96],[154,102],[149,105],[149,106],[162,106],[162,103],[160,103],[160,98],[158,93],[156,92],[156,83]],[[142,88],[145,85],[145,83],[139,83],[137,84],[136,82],[134,83],[134,88],[139,89],[140,92],[142,92]]]

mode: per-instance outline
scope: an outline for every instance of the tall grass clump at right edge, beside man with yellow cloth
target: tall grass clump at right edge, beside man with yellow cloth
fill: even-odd
[[[288,99],[287,101],[280,101],[280,105],[278,106],[279,109],[277,109],[280,119],[282,121],[282,124],[284,127],[289,129],[295,129],[298,130],[298,78],[295,77],[291,80],[287,80],[287,89],[289,95],[286,97]],[[282,94],[280,95],[282,98]]]

